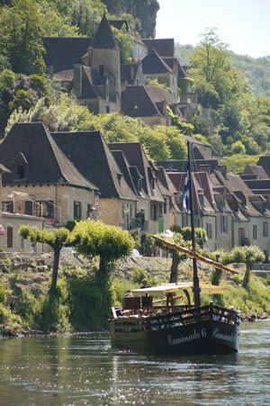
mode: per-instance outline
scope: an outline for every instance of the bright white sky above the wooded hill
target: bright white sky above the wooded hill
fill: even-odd
[[[157,38],[196,45],[218,28],[229,50],[253,58],[270,55],[270,0],[158,0]]]

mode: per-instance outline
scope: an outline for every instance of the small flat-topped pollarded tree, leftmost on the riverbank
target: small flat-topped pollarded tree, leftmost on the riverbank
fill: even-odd
[[[50,292],[54,293],[56,291],[58,283],[58,267],[61,248],[70,246],[69,230],[65,228],[56,230],[36,230],[32,229],[28,225],[25,225],[20,228],[19,234],[21,235],[21,237],[23,237],[23,239],[29,239],[32,244],[36,244],[37,242],[45,243],[53,249],[54,257]]]

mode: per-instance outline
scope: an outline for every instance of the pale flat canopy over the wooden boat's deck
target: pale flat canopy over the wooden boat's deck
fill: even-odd
[[[186,290],[193,287],[193,283],[179,282],[178,284],[159,284],[157,286],[146,287],[141,289],[133,289],[131,293],[133,296],[145,296],[147,293],[150,296],[160,296],[160,294],[174,293],[179,290]],[[223,293],[226,289],[222,286],[214,286],[209,284],[202,284],[201,289],[205,293]]]

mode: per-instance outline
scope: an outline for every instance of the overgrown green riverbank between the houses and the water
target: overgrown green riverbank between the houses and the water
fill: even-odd
[[[59,269],[58,291],[49,296],[52,257],[2,257],[0,262],[0,336],[20,337],[91,331],[107,328],[108,314],[98,307],[100,292],[94,279],[94,262],[65,253]],[[171,260],[136,257],[118,261],[112,272],[112,302],[121,304],[123,294],[138,287],[143,278],[150,284],[167,282]],[[241,271],[240,271],[241,272]],[[211,270],[200,269],[203,284]],[[202,292],[202,303],[233,305],[244,320],[270,314],[270,286],[266,279],[252,275],[250,289],[241,287],[242,274],[229,279],[223,275],[222,294],[211,297]],[[191,262],[180,266],[179,281],[192,280]]]

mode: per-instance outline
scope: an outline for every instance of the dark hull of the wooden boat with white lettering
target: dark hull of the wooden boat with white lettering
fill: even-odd
[[[238,326],[203,320],[168,329],[115,332],[112,322],[112,345],[157,354],[229,354],[238,351]]]

